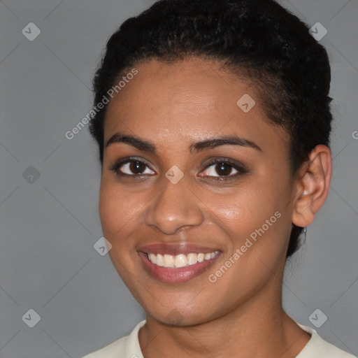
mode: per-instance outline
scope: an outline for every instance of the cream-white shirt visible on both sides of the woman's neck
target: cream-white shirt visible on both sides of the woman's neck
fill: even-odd
[[[120,338],[83,358],[143,358],[138,331],[144,324],[145,320],[138,323],[129,336]],[[308,332],[311,338],[296,358],[355,358],[355,356],[324,341],[315,329],[297,324],[301,329]]]

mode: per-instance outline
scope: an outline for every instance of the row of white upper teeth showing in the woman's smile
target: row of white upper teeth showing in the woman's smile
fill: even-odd
[[[215,251],[207,254],[190,253],[187,255],[179,254],[173,256],[173,255],[161,255],[161,254],[155,255],[152,252],[150,252],[150,254],[148,254],[148,259],[150,260],[150,262],[156,264],[157,266],[179,268],[179,267],[194,265],[197,262],[203,262],[204,260],[213,259],[213,257],[215,257],[218,253],[219,253],[218,251]]]

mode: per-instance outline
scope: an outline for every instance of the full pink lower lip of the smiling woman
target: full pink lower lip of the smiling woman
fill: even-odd
[[[148,255],[144,252],[138,252],[139,257],[144,264],[144,267],[153,278],[166,283],[179,283],[192,280],[204,271],[206,271],[219,257],[220,253],[217,254],[213,259],[204,260],[194,265],[189,265],[179,268],[162,267],[153,264],[148,259]]]

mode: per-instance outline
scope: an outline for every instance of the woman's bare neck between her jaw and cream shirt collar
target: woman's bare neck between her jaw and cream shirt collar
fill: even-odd
[[[147,316],[139,331],[145,358],[293,358],[310,339],[282,309],[280,292],[262,293],[225,315],[171,327]]]

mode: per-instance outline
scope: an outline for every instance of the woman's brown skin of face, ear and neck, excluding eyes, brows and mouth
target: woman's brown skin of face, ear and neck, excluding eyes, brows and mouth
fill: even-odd
[[[318,145],[299,173],[289,171],[289,138],[266,119],[247,80],[202,59],[138,64],[138,75],[109,103],[105,143],[116,132],[149,141],[156,154],[127,143],[104,150],[99,213],[110,258],[147,313],[139,332],[145,358],[296,357],[310,339],[282,309],[282,275],[292,222],[307,227],[327,198],[331,152]],[[236,101],[250,94],[244,113]],[[248,139],[261,148],[220,145],[190,152],[189,145],[218,136]],[[118,159],[143,159],[145,176]],[[229,158],[245,173],[215,180],[212,159]],[[184,177],[165,173],[176,165]],[[229,167],[230,168],[230,167]],[[227,272],[210,273],[232,257],[275,212],[281,217]],[[219,248],[220,259],[187,282],[160,282],[145,271],[138,248],[151,243],[195,243]],[[178,311],[176,314],[173,310]],[[173,317],[179,317],[176,324]],[[229,334],[228,334],[229,333]]]

